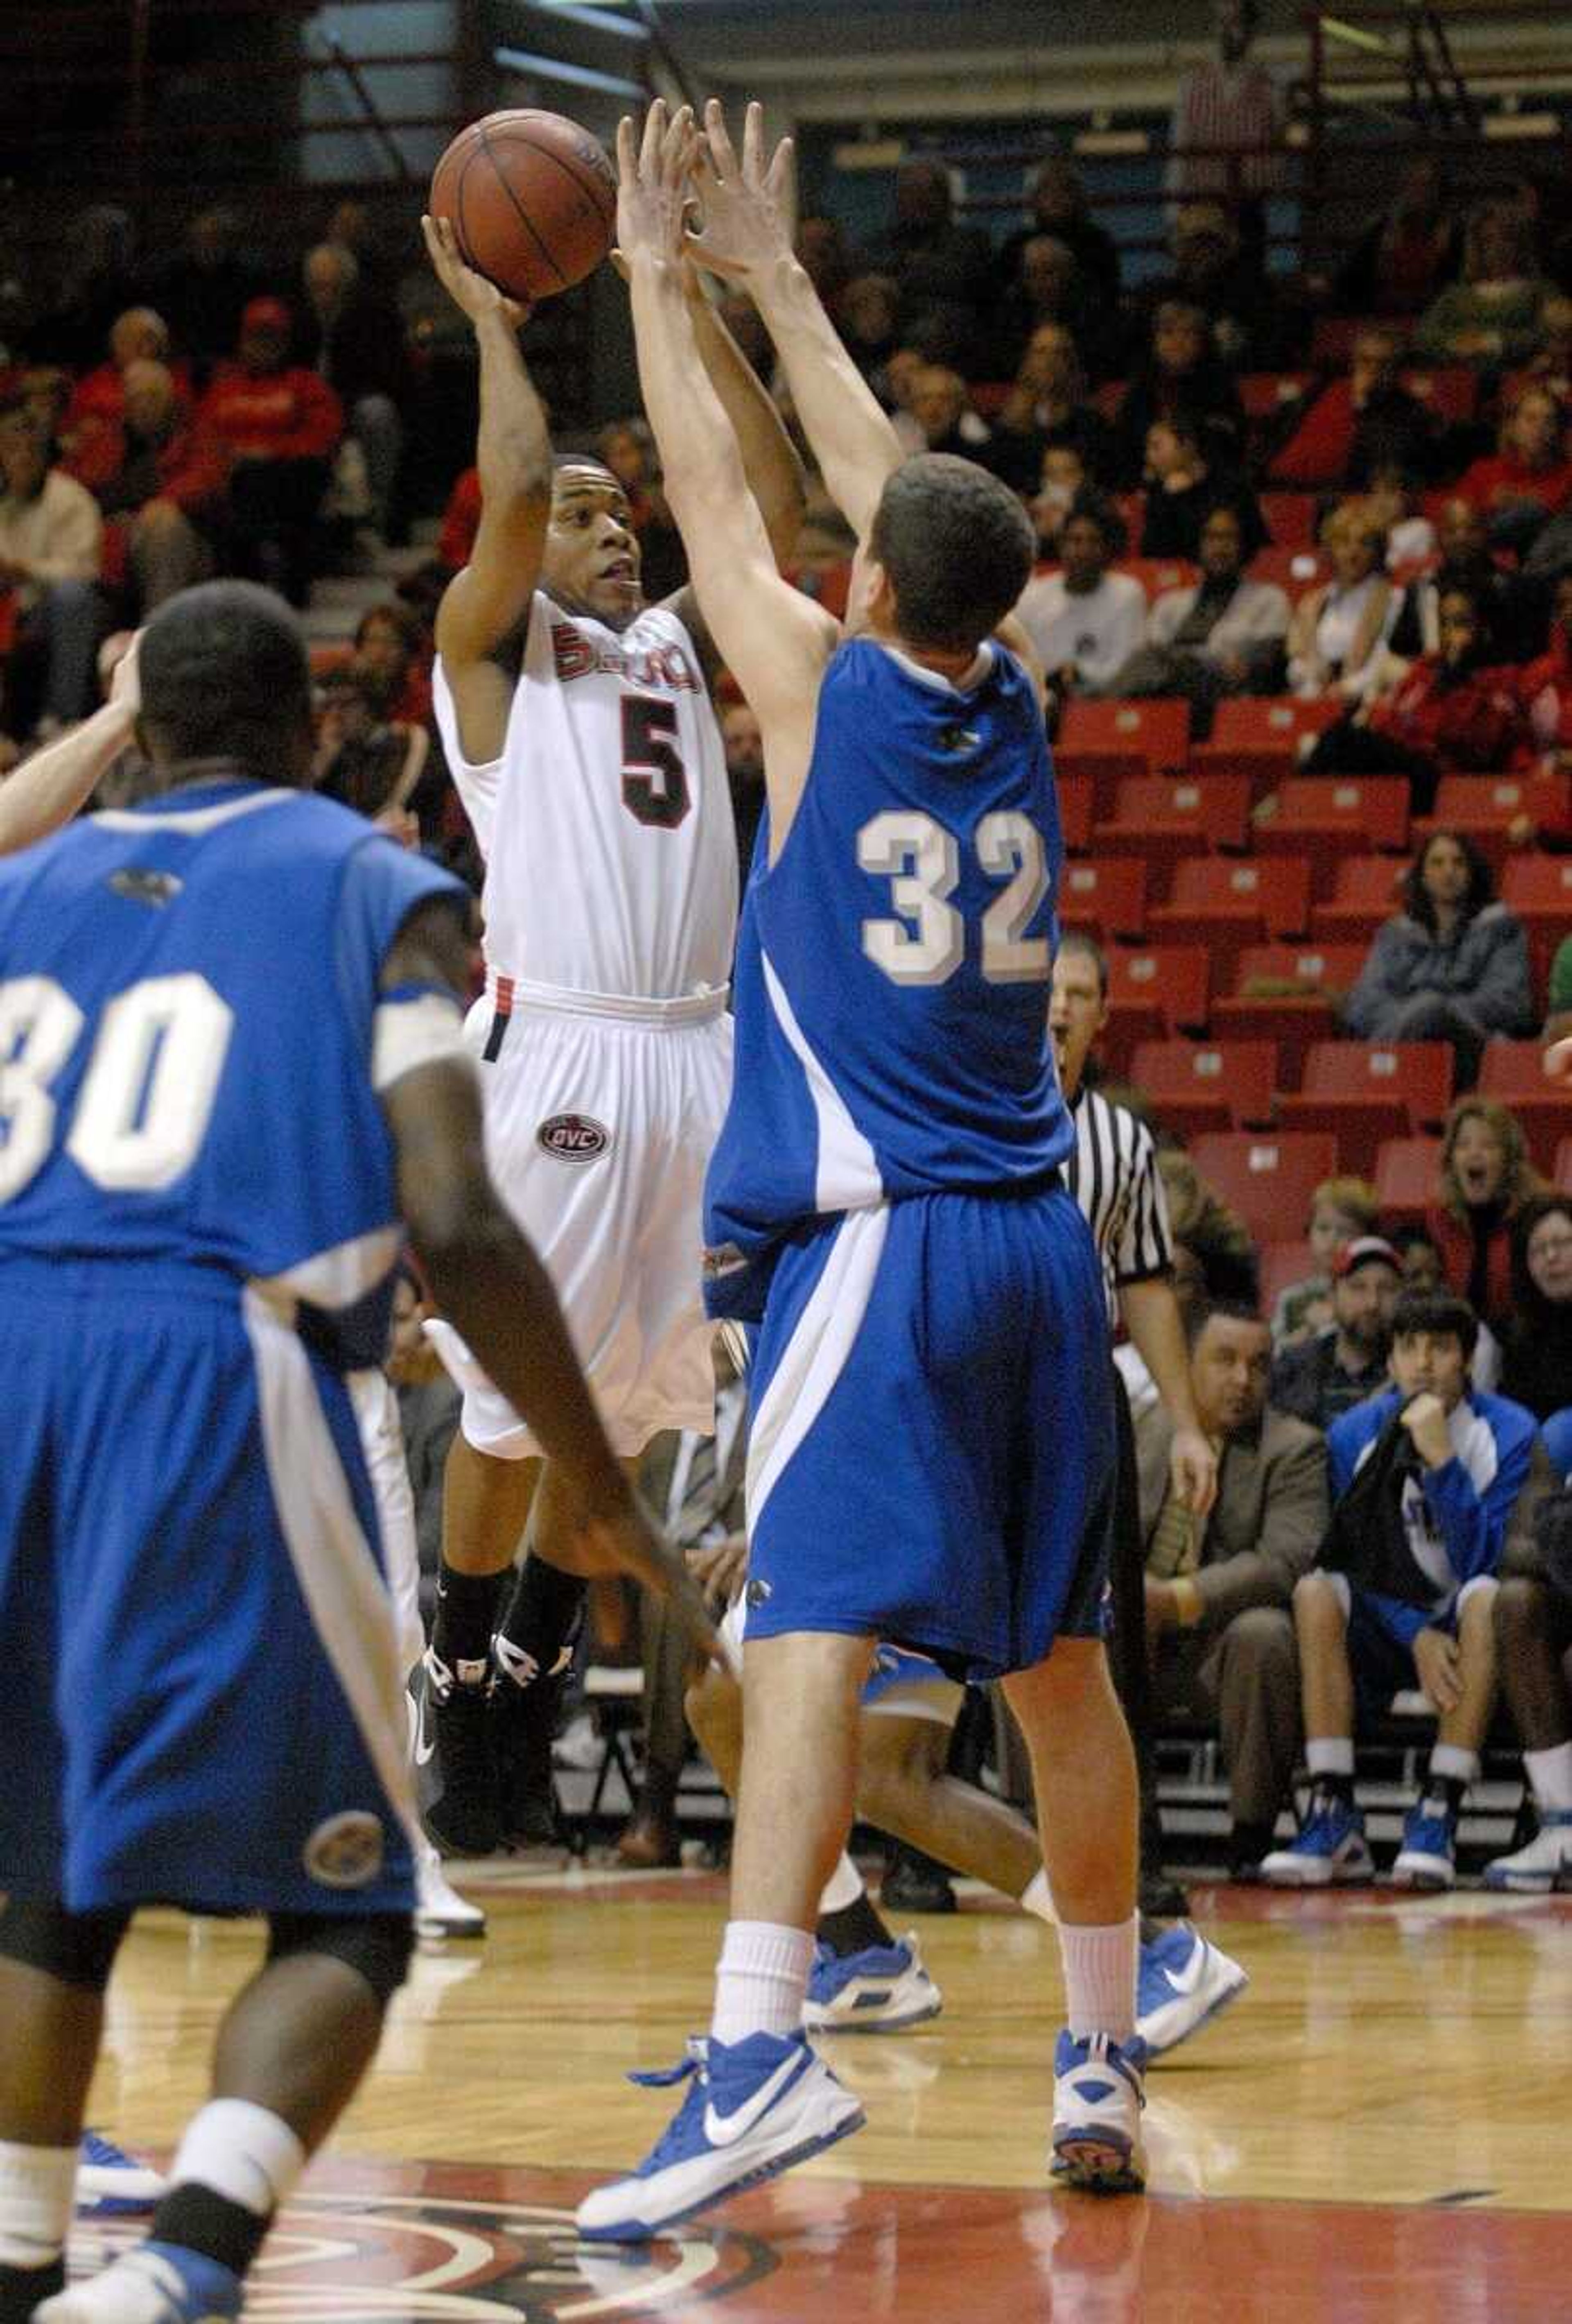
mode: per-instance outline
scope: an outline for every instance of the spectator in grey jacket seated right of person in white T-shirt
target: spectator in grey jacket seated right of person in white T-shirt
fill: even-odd
[[[1289,600],[1275,581],[1245,576],[1240,516],[1219,504],[1200,528],[1200,581],[1163,590],[1147,614],[1145,644],[1117,674],[1112,693],[1189,695],[1200,704],[1275,693],[1286,634]]]

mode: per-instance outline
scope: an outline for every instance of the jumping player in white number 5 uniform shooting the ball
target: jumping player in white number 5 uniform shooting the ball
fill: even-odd
[[[488,1160],[555,1281],[613,1448],[632,1459],[659,1429],[713,1427],[699,1204],[731,1083],[736,932],[715,655],[687,590],[646,607],[611,469],[553,460],[518,349],[522,311],[462,265],[446,221],[427,218],[425,239],[481,353],[481,530],[437,616],[434,695],[485,858],[488,974],[469,1037]],[[697,279],[690,295],[783,555],[801,514],[796,456]],[[432,1717],[416,1750],[434,1741],[432,1834],[483,1855],[506,1836],[488,1694],[555,1664],[581,1585],[550,1564],[571,1525],[560,1473],[541,1471],[518,1413],[455,1336],[441,1346],[464,1413],[425,1664]],[[497,1636],[525,1522],[541,1555]]]

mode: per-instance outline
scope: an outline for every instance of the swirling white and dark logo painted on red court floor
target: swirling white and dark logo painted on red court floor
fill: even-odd
[[[139,2243],[146,2219],[79,2219],[72,2275]],[[300,2194],[246,2284],[244,2324],[557,2324],[662,2317],[771,2275],[757,2236],[687,2226],[643,2245],[590,2245],[569,2203],[439,2194]]]

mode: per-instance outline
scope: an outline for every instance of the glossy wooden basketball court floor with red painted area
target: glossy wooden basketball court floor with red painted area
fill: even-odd
[[[464,1885],[490,1936],[418,1957],[248,2317],[1537,2324],[1572,2303],[1572,1899],[1196,1889],[1252,1985],[1149,2075],[1152,2196],[1096,2201],[1045,2182],[1052,1929],[966,1896],[920,1931],[943,2017],[834,2043],[868,2129],[618,2254],[578,2247],[571,2208],[671,2113],[622,2075],[706,2024],[724,1887],[506,1864]],[[98,2126],[170,2150],[255,1954],[214,1922],[137,1927]],[[91,2222],[72,2254],[135,2233]]]

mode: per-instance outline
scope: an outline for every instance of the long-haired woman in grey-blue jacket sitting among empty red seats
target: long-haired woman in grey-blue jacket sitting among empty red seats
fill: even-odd
[[[1493,899],[1491,867],[1461,832],[1433,832],[1377,930],[1342,1011],[1361,1041],[1451,1041],[1458,1083],[1479,1078],[1491,1034],[1533,1027],[1523,923]]]

